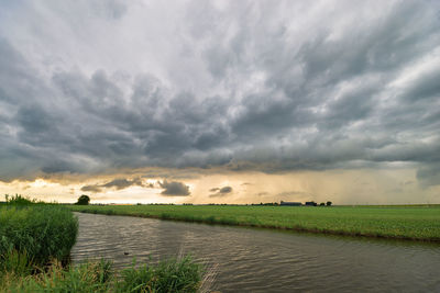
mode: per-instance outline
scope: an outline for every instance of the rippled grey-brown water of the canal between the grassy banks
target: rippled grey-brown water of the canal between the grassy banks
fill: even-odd
[[[217,268],[221,292],[440,292],[440,245],[77,215],[75,262],[123,268],[190,252]]]

